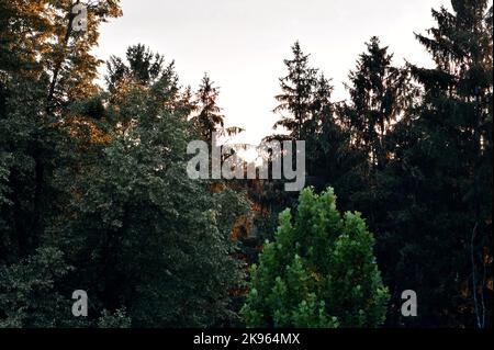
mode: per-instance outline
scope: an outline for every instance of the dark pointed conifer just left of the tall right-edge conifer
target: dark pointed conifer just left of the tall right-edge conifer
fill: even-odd
[[[361,212],[368,219],[378,240],[379,262],[388,266],[389,257],[398,248],[388,246],[392,240],[386,230],[389,213],[395,207],[390,197],[395,178],[386,170],[394,157],[395,125],[417,92],[409,72],[392,65],[393,55],[378,37],[371,37],[366,46],[367,50],[360,54],[356,69],[349,75],[350,99],[337,106],[337,120],[347,136],[347,147],[343,148],[345,172],[337,172],[340,177],[336,183],[340,203],[348,210]],[[396,297],[400,292],[395,292]]]

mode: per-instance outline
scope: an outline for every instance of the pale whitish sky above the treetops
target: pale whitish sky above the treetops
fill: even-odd
[[[124,57],[127,46],[145,44],[175,60],[180,83],[193,89],[207,72],[220,87],[226,125],[246,129],[232,142],[258,144],[279,118],[274,95],[295,41],[311,54],[311,66],[333,78],[334,101],[340,101],[348,72],[373,35],[390,46],[395,65],[406,59],[430,67],[414,32],[434,26],[430,10],[441,4],[449,1],[122,0],[123,16],[101,26],[94,54]]]

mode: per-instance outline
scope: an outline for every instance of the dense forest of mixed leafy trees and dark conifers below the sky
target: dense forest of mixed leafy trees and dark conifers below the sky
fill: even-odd
[[[303,43],[280,57],[266,139],[305,142],[300,192],[188,177],[191,140],[243,129],[153,47],[98,82],[119,2],[80,31],[79,1],[0,0],[0,328],[492,327],[490,1],[433,9],[434,68],[370,37],[343,102]]]

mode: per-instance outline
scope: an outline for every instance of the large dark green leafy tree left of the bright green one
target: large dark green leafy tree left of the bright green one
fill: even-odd
[[[117,90],[108,114],[126,123],[96,124],[110,137],[91,139],[78,167],[85,171],[56,174],[71,195],[46,240],[67,252],[76,270],[66,283],[91,295],[93,314],[116,313],[119,319],[104,313],[100,325],[125,325],[126,317],[134,327],[235,320],[229,293],[242,268],[229,234],[246,203],[188,178],[190,124],[169,90],[161,79]]]

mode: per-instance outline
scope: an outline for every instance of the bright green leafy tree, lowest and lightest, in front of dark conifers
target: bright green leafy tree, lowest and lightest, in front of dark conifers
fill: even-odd
[[[280,215],[274,241],[250,271],[242,309],[248,327],[377,327],[388,290],[358,213],[341,215],[332,189],[305,189],[294,219]]]

